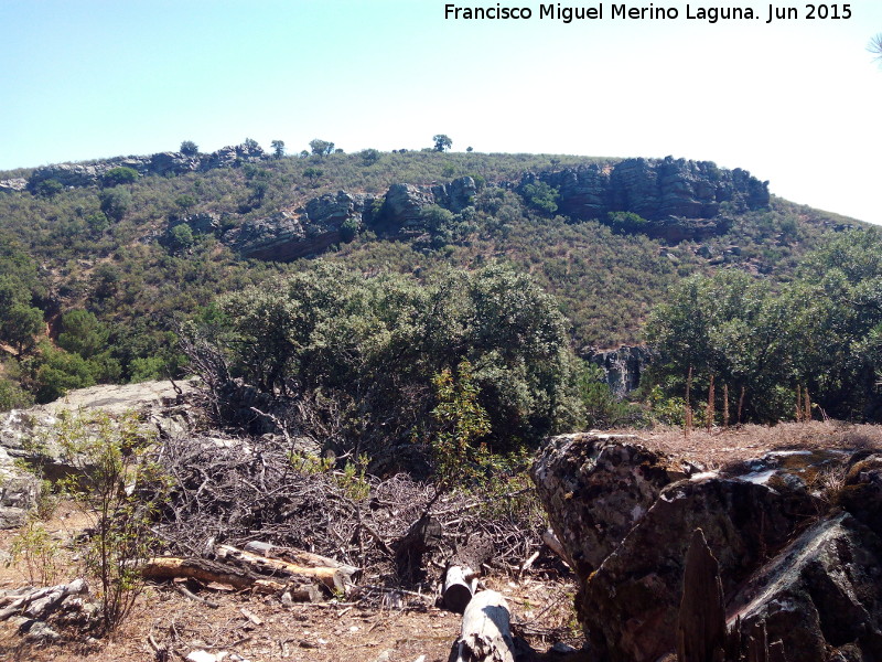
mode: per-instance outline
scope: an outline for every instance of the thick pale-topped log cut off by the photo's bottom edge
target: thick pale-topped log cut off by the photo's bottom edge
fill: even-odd
[[[502,594],[475,594],[465,608],[460,638],[448,662],[515,662],[508,605]]]

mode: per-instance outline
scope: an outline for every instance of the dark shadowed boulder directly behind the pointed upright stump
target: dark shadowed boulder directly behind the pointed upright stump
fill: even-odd
[[[579,613],[613,662],[650,662],[675,647],[686,553],[701,528],[731,592],[817,514],[802,491],[709,477],[673,483],[587,578]],[[566,543],[564,543],[566,544]]]

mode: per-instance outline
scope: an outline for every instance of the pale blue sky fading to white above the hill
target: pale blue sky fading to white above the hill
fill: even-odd
[[[0,169],[246,137],[744,168],[882,223],[882,2],[848,20],[452,21],[437,0],[0,0]],[[461,7],[495,7],[472,1]],[[632,2],[628,7],[648,7]],[[832,6],[828,6],[832,7]],[[840,10],[843,3],[838,3]]]

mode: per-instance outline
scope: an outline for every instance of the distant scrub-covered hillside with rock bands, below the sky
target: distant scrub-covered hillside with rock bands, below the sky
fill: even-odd
[[[509,263],[558,298],[588,354],[639,342],[685,276],[734,267],[784,282],[825,233],[859,225],[709,162],[324,147],[276,158],[246,141],[0,173],[0,277],[56,344],[65,313],[94,316],[98,382],[180,371],[174,318],[318,257],[419,279]],[[34,316],[22,319],[19,335]],[[7,335],[8,356],[26,359],[39,334]],[[7,374],[28,383],[22,370]]]

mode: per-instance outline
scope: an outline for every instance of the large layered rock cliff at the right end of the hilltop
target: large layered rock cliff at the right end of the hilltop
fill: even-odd
[[[671,157],[527,174],[518,188],[536,181],[559,191],[560,212],[573,220],[632,212],[649,221],[647,234],[670,242],[727,232],[730,221],[720,215],[723,202],[755,210],[770,201],[768,182],[760,182],[745,170]]]

